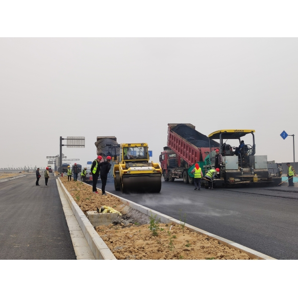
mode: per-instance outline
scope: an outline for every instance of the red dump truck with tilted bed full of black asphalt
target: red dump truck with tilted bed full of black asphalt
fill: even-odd
[[[205,175],[204,162],[211,150],[219,148],[219,143],[195,130],[192,124],[168,124],[167,147],[159,156],[162,175],[165,181],[173,182],[182,178],[184,183],[193,184],[191,170],[196,162]],[[210,142],[210,143],[209,143]]]

